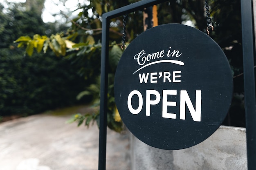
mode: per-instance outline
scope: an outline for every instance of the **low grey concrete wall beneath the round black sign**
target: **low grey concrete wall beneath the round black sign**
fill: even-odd
[[[132,170],[246,170],[246,130],[220,128],[207,140],[182,150],[161,150],[131,134]]]

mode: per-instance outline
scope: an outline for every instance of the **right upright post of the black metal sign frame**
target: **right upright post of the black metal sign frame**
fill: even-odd
[[[252,0],[241,0],[248,170],[256,168],[256,100]]]

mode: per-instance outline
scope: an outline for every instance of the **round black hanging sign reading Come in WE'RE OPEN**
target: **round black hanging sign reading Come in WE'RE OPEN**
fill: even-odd
[[[222,49],[205,33],[163,24],[141,33],[115,74],[124,124],[155,148],[189,148],[207,139],[228,112],[232,74]]]

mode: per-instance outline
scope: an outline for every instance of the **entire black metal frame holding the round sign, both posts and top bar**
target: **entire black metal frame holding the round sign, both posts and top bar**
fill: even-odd
[[[101,103],[99,131],[99,170],[106,170],[107,141],[107,104],[108,104],[108,46],[110,20],[126,13],[131,13],[167,0],[141,0],[134,4],[104,13],[102,15],[102,49],[101,49]],[[252,0],[241,0],[243,61],[245,84],[245,113],[247,129],[248,170],[256,167],[256,99],[254,80],[254,27]]]

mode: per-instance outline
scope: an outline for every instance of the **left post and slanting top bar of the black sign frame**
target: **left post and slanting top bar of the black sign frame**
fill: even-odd
[[[115,9],[102,15],[101,47],[101,93],[99,125],[99,165],[98,170],[106,170],[107,108],[108,108],[108,50],[110,19],[139,9],[144,9],[167,0],[141,0],[126,7]]]

